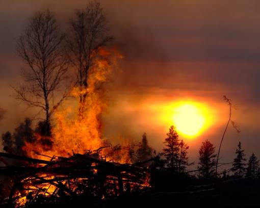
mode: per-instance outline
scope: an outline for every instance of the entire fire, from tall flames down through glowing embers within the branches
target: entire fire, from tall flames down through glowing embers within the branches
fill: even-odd
[[[118,196],[124,190],[130,191],[137,186],[149,186],[145,168],[120,164],[133,163],[135,143],[123,140],[122,145],[102,148],[108,145],[101,134],[101,115],[108,105],[103,84],[109,80],[116,60],[121,56],[115,50],[104,48],[98,53],[98,59],[88,72],[87,88],[73,87],[70,91],[72,99],[64,102],[55,112],[51,138],[35,135],[36,142],[25,143],[23,150],[30,157],[44,161],[48,157],[50,162],[47,165],[32,165],[40,171],[20,181],[22,190],[14,194],[14,199],[17,198],[16,207],[30,202],[30,196],[36,198],[41,194],[50,199],[59,195],[57,190],[60,187],[71,196],[83,193],[89,186],[95,187],[96,193],[94,191],[93,194],[96,196],[99,195],[99,189],[106,189],[106,194],[100,196],[105,198],[109,195]],[[81,95],[86,95],[84,101],[80,99]],[[135,168],[136,173],[132,170]],[[135,179],[132,180],[132,177]]]

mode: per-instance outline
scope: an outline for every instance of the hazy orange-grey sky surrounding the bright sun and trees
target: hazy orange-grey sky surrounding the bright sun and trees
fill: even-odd
[[[254,152],[260,157],[259,1],[106,0],[101,4],[124,56],[105,115],[108,138],[137,140],[146,132],[153,147],[161,149],[169,127],[160,122],[162,108],[174,100],[192,99],[209,106],[217,117],[197,139],[184,138],[190,158],[196,160],[201,141],[210,139],[219,145],[228,117],[225,94],[237,105],[233,120],[241,133],[228,129],[221,160],[230,162],[238,141],[247,156]],[[7,111],[0,133],[35,114],[10,96],[9,87],[20,79],[23,65],[14,40],[27,19],[50,9],[65,28],[75,9],[86,5],[80,0],[0,0],[0,107]]]

